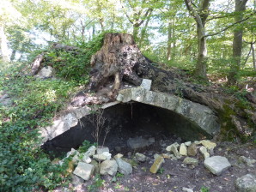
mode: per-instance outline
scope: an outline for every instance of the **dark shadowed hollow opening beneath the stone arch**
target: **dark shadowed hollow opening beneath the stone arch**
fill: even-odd
[[[46,151],[68,152],[71,148],[80,147],[84,140],[95,142],[94,120],[97,119],[97,115],[98,113],[95,112],[82,117],[75,127],[51,141],[46,141],[42,148]],[[102,117],[106,118],[106,121],[101,128],[99,145],[102,145],[106,137],[104,146],[109,147],[112,152],[117,147],[121,148],[122,153],[134,150],[152,151],[154,148],[155,151],[159,151],[165,147],[163,143],[166,142],[172,144],[177,140],[195,141],[210,138],[210,135],[185,117],[173,111],[138,102],[110,106],[103,111]],[[109,133],[106,135],[107,128]],[[147,147],[134,149],[129,147],[127,142],[131,138],[154,141]]]

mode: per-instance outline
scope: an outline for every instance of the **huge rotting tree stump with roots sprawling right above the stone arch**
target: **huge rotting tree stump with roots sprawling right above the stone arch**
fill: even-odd
[[[186,82],[185,75],[182,75],[180,70],[154,67],[152,62],[139,51],[130,34],[106,34],[104,45],[92,57],[91,65],[93,69],[88,90],[98,94],[101,90],[109,90],[109,87],[112,87],[112,91],[106,92],[109,99],[115,100],[119,89],[125,87],[127,83],[134,87],[139,86],[142,79],[150,79],[152,91],[175,94],[207,105],[219,116],[222,126],[229,126],[232,131],[236,128],[242,134],[247,126],[243,126],[246,123],[245,118],[249,118],[248,122],[256,123],[256,117],[253,119],[249,115],[256,111],[241,109],[236,105],[239,100],[233,95],[229,97],[226,93],[220,94],[221,89],[216,90],[213,87]],[[229,114],[230,111],[232,112]]]

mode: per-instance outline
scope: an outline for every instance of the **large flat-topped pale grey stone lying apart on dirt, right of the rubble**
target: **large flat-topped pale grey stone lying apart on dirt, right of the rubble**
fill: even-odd
[[[212,156],[204,160],[204,166],[216,176],[222,174],[231,167],[229,160],[222,156]]]

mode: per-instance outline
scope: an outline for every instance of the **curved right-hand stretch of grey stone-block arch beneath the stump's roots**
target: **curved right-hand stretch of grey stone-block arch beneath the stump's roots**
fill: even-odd
[[[197,124],[198,129],[212,136],[216,135],[220,129],[217,117],[209,107],[174,95],[155,93],[142,87],[133,87],[119,90],[117,100],[123,103],[133,100],[174,111],[182,117],[186,117],[192,123]]]

